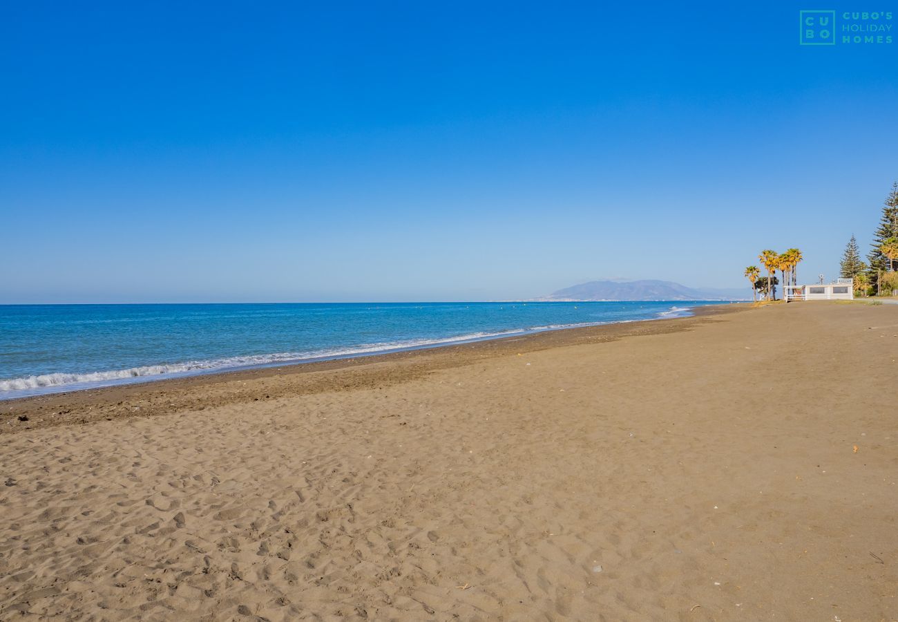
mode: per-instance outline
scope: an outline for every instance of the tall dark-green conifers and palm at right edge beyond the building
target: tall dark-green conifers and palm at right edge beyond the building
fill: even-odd
[[[859,296],[898,294],[898,182],[892,184],[892,191],[885,198],[867,262],[860,258],[858,240],[851,235],[840,268],[841,278],[851,279]]]

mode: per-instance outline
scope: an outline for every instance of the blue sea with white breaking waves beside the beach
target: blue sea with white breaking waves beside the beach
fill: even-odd
[[[0,399],[674,317],[708,304],[0,306]]]

